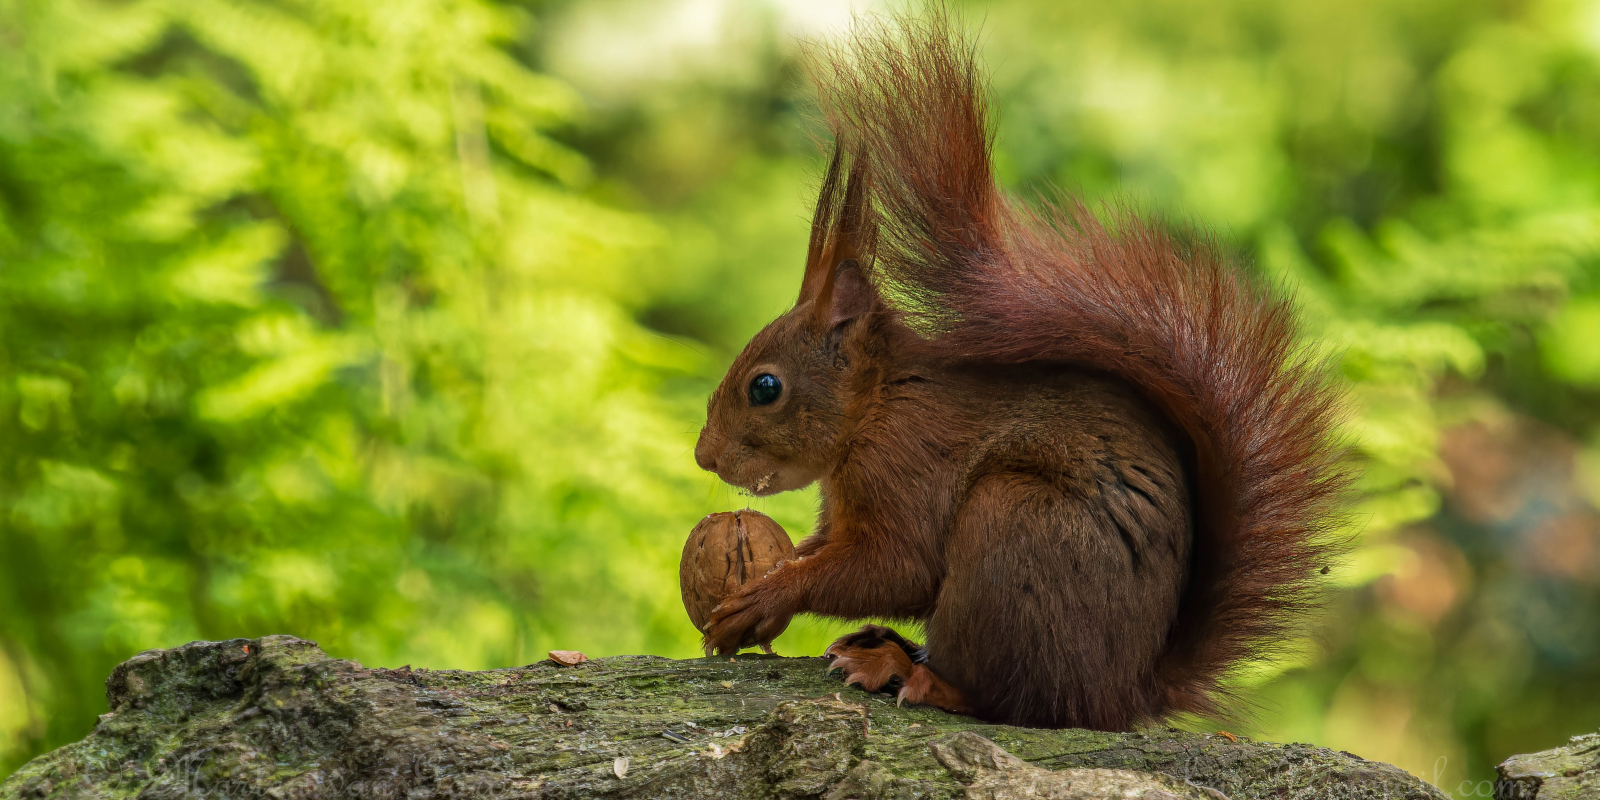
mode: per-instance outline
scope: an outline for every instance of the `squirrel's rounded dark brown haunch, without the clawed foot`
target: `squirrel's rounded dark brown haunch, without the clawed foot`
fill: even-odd
[[[1128,730],[1160,710],[1154,670],[1178,611],[1187,517],[1123,490],[1109,466],[1078,475],[1088,480],[990,474],[957,512],[928,667],[984,720]]]

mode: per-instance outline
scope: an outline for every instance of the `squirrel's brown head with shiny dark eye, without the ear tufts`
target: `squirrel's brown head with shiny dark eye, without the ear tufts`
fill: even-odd
[[[845,392],[866,358],[861,317],[872,293],[845,262],[829,294],[773,320],[733,360],[710,395],[694,461],[752,494],[798,490],[821,478],[845,422]]]

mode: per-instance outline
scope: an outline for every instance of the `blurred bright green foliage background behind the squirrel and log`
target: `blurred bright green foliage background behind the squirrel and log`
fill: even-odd
[[[1474,795],[1600,726],[1600,5],[968,10],[1010,186],[1218,229],[1341,354],[1360,549],[1230,730]],[[795,35],[846,21],[0,0],[0,774],[192,638],[693,656],[678,547],[747,501],[691,446],[795,291]]]

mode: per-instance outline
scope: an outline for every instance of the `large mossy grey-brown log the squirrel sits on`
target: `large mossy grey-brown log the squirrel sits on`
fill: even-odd
[[[107,698],[93,733],[22,766],[0,798],[1445,797],[1306,744],[896,707],[814,658],[365,669],[264,637],[142,653]]]

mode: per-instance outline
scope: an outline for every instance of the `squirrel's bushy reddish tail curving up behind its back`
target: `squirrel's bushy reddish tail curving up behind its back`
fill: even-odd
[[[1216,712],[1224,672],[1283,642],[1338,554],[1338,392],[1298,347],[1291,306],[1206,238],[1002,195],[974,48],[947,14],[858,26],[819,56],[835,147],[870,186],[869,274],[926,347],[1106,370],[1187,432],[1194,557],[1158,715]]]

